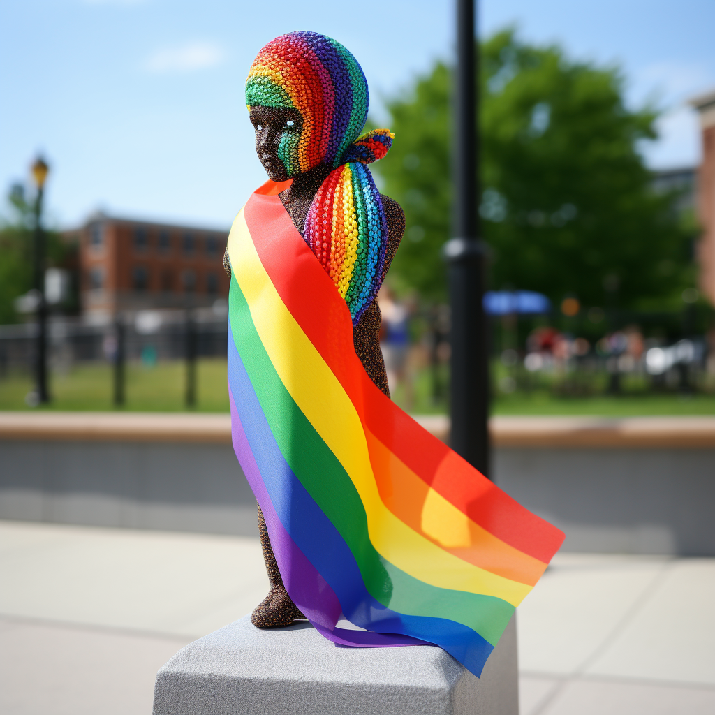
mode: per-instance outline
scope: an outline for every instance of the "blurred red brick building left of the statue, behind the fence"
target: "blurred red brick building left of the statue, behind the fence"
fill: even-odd
[[[89,322],[117,312],[209,307],[228,296],[227,232],[89,217],[66,238],[79,251],[79,301]]]

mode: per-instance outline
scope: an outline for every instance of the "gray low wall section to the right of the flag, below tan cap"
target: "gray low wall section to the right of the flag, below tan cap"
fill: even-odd
[[[564,551],[715,555],[715,449],[498,448],[494,468]]]

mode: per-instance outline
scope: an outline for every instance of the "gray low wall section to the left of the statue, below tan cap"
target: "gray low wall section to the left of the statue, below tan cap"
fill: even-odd
[[[258,536],[230,444],[0,440],[0,518]]]

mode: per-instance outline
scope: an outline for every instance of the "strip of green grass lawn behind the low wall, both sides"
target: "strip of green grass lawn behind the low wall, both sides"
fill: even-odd
[[[446,383],[446,375],[443,375]],[[427,371],[415,380],[412,395],[404,386],[395,390],[395,402],[416,414],[444,413],[444,397],[433,402]],[[29,410],[25,396],[32,388],[29,375],[0,378],[0,410]],[[106,363],[76,365],[66,374],[51,375],[52,402],[48,410],[112,410],[112,369]],[[122,410],[177,412],[185,410],[186,368],[181,361],[146,367],[127,364],[127,402]],[[443,395],[445,388],[443,388]],[[197,363],[197,412],[228,412],[226,361],[204,358]],[[561,397],[549,390],[498,395],[495,415],[715,415],[715,395],[677,393],[624,394],[618,397]]]

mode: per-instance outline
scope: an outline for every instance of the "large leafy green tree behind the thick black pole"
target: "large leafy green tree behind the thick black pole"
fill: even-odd
[[[617,292],[623,307],[668,301],[691,285],[694,235],[672,195],[651,189],[638,147],[657,114],[623,100],[615,67],[566,58],[513,31],[481,47],[482,232],[491,287],[586,305]],[[438,63],[388,103],[395,144],[376,165],[405,208],[393,271],[432,300],[445,297],[440,248],[450,237],[451,73]],[[475,197],[476,200],[476,197]]]

